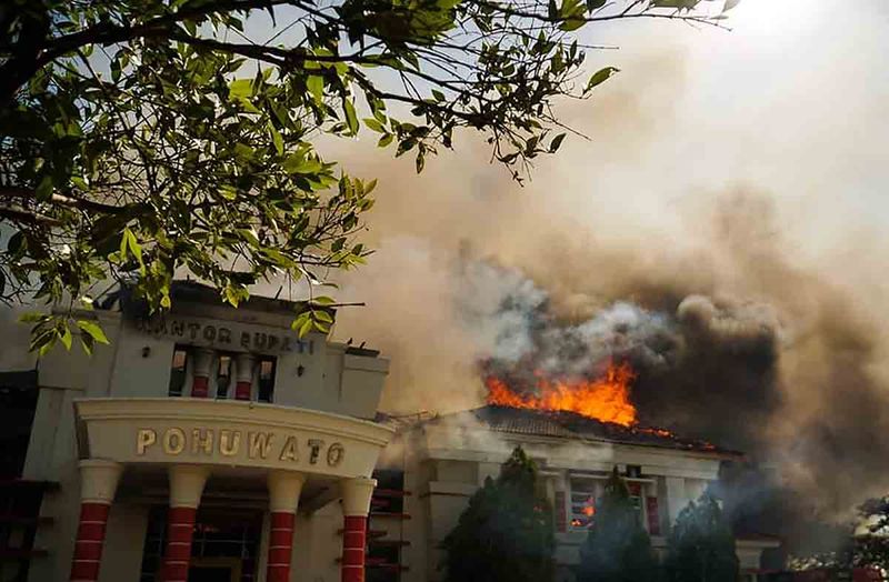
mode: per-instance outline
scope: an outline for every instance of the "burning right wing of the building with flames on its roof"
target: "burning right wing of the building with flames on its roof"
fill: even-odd
[[[397,511],[378,498],[370,553],[397,569],[401,582],[434,581],[439,545],[486,478],[496,478],[517,445],[537,462],[555,510],[559,581],[573,579],[596,500],[615,466],[625,475],[653,546],[662,552],[679,512],[742,453],[637,423],[632,371],[611,363],[601,378],[557,381],[538,374],[533,393],[488,377],[488,404],[402,424],[381,468],[397,475]],[[403,421],[402,421],[403,422]],[[737,540],[745,580],[756,580],[765,550],[779,541]],[[383,550],[386,548],[386,550]],[[384,556],[384,558],[383,558]],[[380,579],[396,580],[394,575]]]

